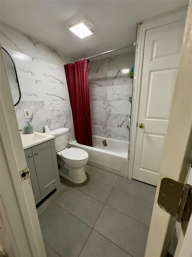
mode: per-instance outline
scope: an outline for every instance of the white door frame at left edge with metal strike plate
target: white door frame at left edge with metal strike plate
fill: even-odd
[[[0,45],[1,66],[1,207],[7,241],[15,256],[46,256],[30,179],[21,181],[27,167]],[[8,242],[9,241],[9,242]],[[4,250],[6,246],[2,245]]]

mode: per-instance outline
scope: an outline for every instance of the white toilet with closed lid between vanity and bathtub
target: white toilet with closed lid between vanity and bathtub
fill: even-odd
[[[55,136],[59,174],[74,183],[85,181],[87,176],[84,166],[88,161],[88,153],[79,148],[66,148],[69,139],[69,129],[58,128],[45,133]]]

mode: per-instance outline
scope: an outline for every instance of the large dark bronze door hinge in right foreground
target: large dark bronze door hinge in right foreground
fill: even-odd
[[[157,202],[161,209],[181,222],[185,235],[192,212],[192,186],[164,177],[161,180]]]

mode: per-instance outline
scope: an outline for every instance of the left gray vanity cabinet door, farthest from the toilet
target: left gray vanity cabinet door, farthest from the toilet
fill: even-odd
[[[32,149],[31,148],[26,149],[24,150],[24,153],[27,161],[27,167],[29,168],[29,171],[30,171],[30,180],[31,180],[31,185],[33,190],[33,196],[34,196],[34,199],[36,200],[39,196],[41,196],[41,193],[40,193],[39,183],[38,183],[37,174],[35,170]]]

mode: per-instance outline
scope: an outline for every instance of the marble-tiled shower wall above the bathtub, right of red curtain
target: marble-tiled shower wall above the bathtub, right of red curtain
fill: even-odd
[[[134,65],[134,53],[88,63],[92,134],[126,140],[133,80],[122,69]]]

